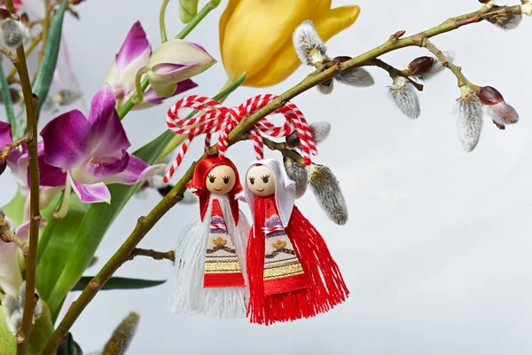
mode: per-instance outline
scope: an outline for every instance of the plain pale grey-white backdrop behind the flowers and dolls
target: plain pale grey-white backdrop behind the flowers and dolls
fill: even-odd
[[[77,7],[81,21],[66,20],[74,71],[87,102],[136,20],[142,21],[154,46],[160,43],[159,4],[88,0]],[[194,79],[200,83],[194,93],[214,95],[226,80],[218,44],[218,19],[225,4],[187,38],[201,43],[219,61]],[[397,30],[413,34],[479,7],[474,0],[357,4],[362,11],[355,25],[328,43],[332,56],[353,56]],[[167,25],[168,35],[183,26],[177,1],[168,6]],[[168,282],[147,290],[100,292],[74,325],[74,338],[84,351],[98,350],[121,318],[138,310],[140,327],[129,354],[531,353],[531,31],[532,19],[526,18],[511,32],[480,23],[434,38],[442,50],[455,52],[457,64],[473,83],[497,87],[520,112],[520,122],[505,131],[486,119],[472,154],[465,154],[458,142],[452,107],[459,91],[448,72],[426,85],[417,121],[403,116],[387,99],[390,81],[378,68],[370,69],[377,81],[372,88],[337,85],[331,96],[309,91],[293,100],[310,122],[332,123],[331,138],[319,147],[317,162],[330,166],[340,180],[348,200],[348,225],[332,224],[311,193],[298,205],[325,235],[340,264],[351,290],[347,303],[315,319],[262,327],[246,319],[171,315],[164,308]],[[425,53],[405,49],[384,59],[405,67]],[[309,69],[301,67],[276,87],[241,88],[226,104],[236,106],[255,94],[286,91],[307,74]],[[129,114],[125,125],[133,148],[165,130],[167,108]],[[202,144],[196,143],[185,163],[200,152]],[[231,149],[230,156],[241,171],[254,159],[247,142]],[[0,182],[4,203],[12,196],[12,178],[4,174]],[[129,202],[98,248],[100,261],[88,275],[98,272],[137,217],[159,199],[158,193],[151,193],[145,201]],[[172,209],[141,247],[171,249],[182,225],[197,213],[195,206]],[[169,262],[147,258],[137,258],[117,272],[158,280],[171,274]]]

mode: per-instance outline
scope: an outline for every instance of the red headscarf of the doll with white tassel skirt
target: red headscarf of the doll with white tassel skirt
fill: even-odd
[[[236,199],[235,195],[237,193],[240,193],[243,188],[242,185],[240,185],[239,170],[237,170],[235,164],[229,159],[225,157],[209,157],[201,160],[196,165],[196,168],[194,169],[194,176],[192,177],[192,180],[189,181],[189,183],[186,185],[186,187],[190,189],[196,189],[196,191],[194,191],[193,193],[197,194],[200,197],[200,217],[203,221],[203,217],[205,217],[205,214],[207,213],[208,201],[210,199],[210,193],[208,192],[206,185],[207,176],[211,172],[211,170],[215,169],[215,167],[220,165],[227,165],[235,172],[235,185],[232,188],[231,192],[227,194],[229,197],[229,205],[231,206],[231,213],[235,220],[235,225],[238,225],[239,201]]]

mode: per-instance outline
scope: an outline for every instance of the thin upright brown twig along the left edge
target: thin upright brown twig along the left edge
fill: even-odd
[[[14,13],[12,0],[5,0],[5,6],[8,11]],[[27,73],[26,54],[24,45],[17,48],[17,58],[13,61],[20,77],[20,87],[24,95],[27,114],[27,154],[29,158],[29,182],[30,182],[30,222],[29,222],[29,247],[26,262],[26,294],[24,301],[24,312],[22,323],[16,335],[17,355],[26,354],[27,339],[31,331],[33,315],[35,310],[35,268],[37,265],[37,243],[39,237],[39,222],[41,214],[39,212],[39,166],[37,163],[37,116],[35,106],[37,98],[35,97],[29,75]]]

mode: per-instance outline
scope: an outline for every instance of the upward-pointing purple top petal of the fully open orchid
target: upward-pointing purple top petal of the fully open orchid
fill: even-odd
[[[105,84],[94,95],[90,104],[91,156],[114,155],[130,146],[114,105],[113,89]]]

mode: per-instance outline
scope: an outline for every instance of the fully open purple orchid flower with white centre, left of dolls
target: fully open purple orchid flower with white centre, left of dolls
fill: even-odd
[[[66,212],[70,189],[83,202],[110,203],[106,184],[136,184],[164,168],[164,164],[149,166],[127,153],[129,140],[114,106],[113,89],[104,85],[92,99],[88,117],[73,110],[54,118],[41,131],[44,162],[61,169],[59,174],[42,171],[41,185],[64,182],[60,211]]]

